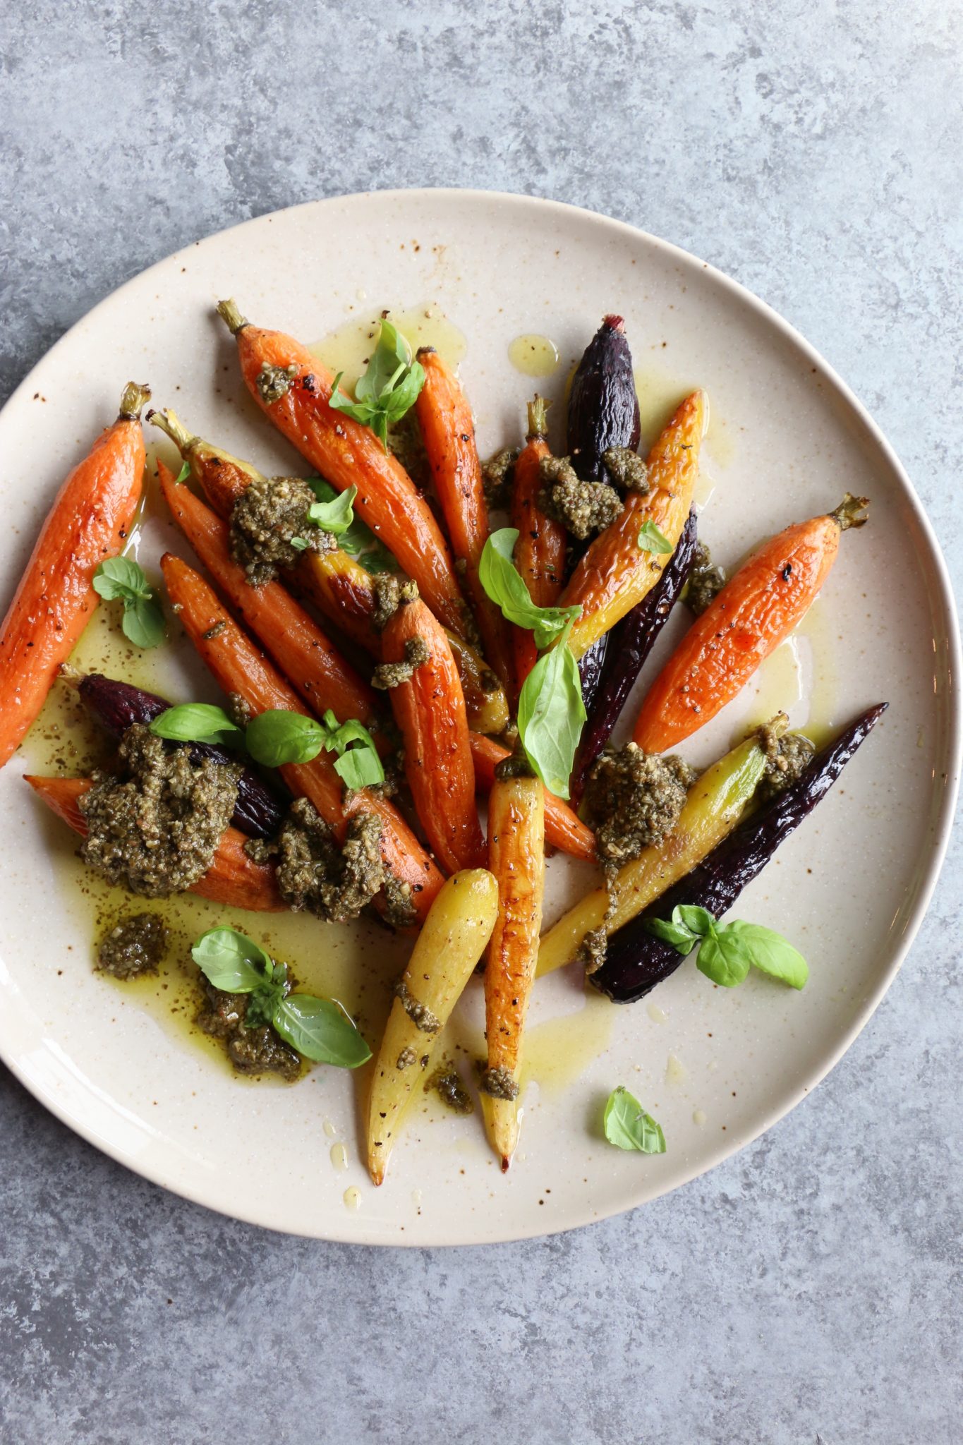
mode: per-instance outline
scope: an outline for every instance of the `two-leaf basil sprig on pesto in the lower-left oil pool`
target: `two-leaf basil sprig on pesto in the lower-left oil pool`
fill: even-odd
[[[341,1004],[292,993],[286,965],[269,958],[247,933],[211,928],[191,955],[215,988],[250,994],[244,1016],[248,1029],[270,1025],[292,1049],[316,1064],[357,1069],[371,1058],[371,1049]]]

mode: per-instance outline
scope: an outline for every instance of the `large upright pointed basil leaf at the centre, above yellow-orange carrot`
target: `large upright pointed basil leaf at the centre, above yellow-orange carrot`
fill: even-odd
[[[518,737],[526,757],[557,798],[569,796],[569,777],[586,720],[579,665],[569,649],[572,623],[544,652],[524,681],[518,698]]]

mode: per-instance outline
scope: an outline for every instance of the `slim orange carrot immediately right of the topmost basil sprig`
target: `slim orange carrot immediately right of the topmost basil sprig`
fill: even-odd
[[[465,568],[465,585],[475,608],[485,656],[495,675],[508,686],[511,682],[508,623],[478,578],[478,564],[489,526],[481,461],[475,445],[475,419],[458,377],[437,351],[433,347],[422,347],[417,358],[424,367],[424,386],[414,410],[432,467],[435,494],[445,514],[452,552]]]

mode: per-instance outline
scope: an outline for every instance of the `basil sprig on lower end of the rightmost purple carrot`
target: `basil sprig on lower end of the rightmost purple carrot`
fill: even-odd
[[[741,984],[749,968],[758,968],[790,988],[806,987],[809,965],[803,955],[781,933],[762,923],[745,923],[736,918],[719,925],[709,909],[680,903],[673,909],[671,919],[653,918],[645,928],[680,954],[699,948],[696,967],[723,988]]]

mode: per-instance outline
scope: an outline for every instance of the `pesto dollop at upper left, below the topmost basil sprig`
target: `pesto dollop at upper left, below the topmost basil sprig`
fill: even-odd
[[[335,551],[331,532],[308,520],[315,500],[300,477],[256,477],[240,494],[231,512],[230,545],[251,587],[273,582],[305,552]]]

